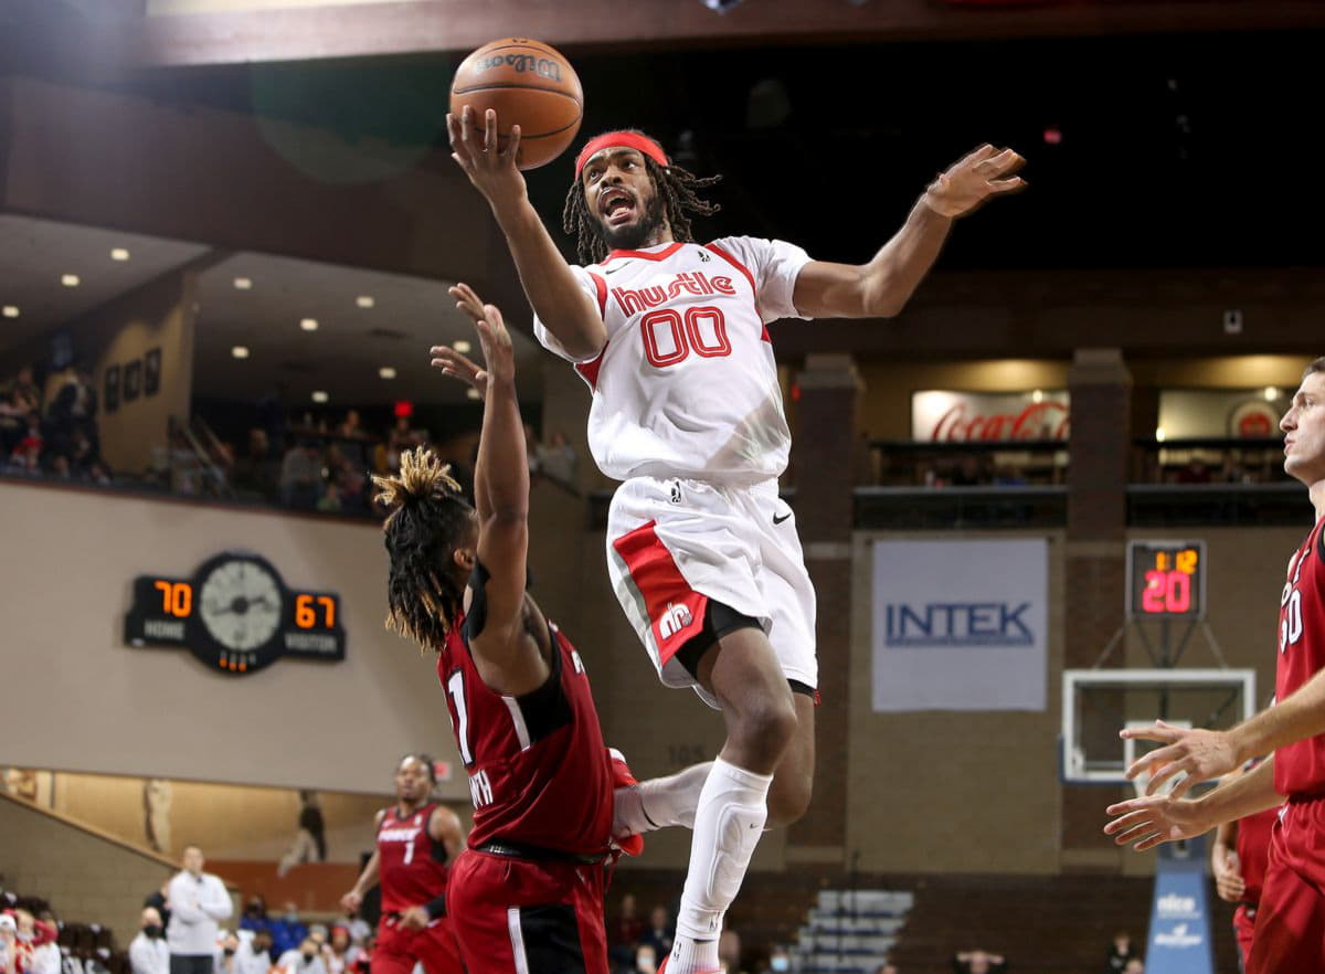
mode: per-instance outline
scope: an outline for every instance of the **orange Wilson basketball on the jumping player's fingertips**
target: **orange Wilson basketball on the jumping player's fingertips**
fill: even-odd
[[[450,82],[450,113],[469,106],[482,135],[488,109],[497,111],[501,146],[519,126],[522,170],[535,170],[566,151],[584,115],[579,77],[560,52],[539,41],[506,37],[472,53]]]

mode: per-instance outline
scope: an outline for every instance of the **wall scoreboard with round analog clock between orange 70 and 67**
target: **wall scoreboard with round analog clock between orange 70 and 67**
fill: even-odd
[[[343,660],[341,598],[288,588],[260,555],[219,554],[192,578],[135,578],[125,643],[184,647],[235,675],[256,673],[282,656]]]

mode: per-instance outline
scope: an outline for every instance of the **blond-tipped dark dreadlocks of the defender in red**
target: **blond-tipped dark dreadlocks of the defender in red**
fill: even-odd
[[[376,502],[391,510],[382,526],[391,555],[387,628],[436,649],[464,604],[464,587],[448,567],[472,508],[450,468],[424,447],[400,456],[399,476],[372,482]]]

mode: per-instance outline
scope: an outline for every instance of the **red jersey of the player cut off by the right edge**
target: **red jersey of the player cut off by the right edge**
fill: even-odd
[[[1317,521],[1288,563],[1279,602],[1279,672],[1275,698],[1287,700],[1325,667],[1325,533]],[[1275,751],[1275,790],[1304,796],[1325,792],[1325,734]]]

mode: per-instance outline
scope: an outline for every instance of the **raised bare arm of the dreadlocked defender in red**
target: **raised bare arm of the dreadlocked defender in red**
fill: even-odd
[[[523,637],[529,455],[515,398],[515,351],[496,306],[482,303],[465,284],[457,284],[450,294],[474,322],[486,372],[474,476],[485,485],[490,506],[478,527],[478,561],[489,572],[488,615],[470,649],[484,682],[498,693],[521,694],[541,686],[550,669],[537,647]]]

